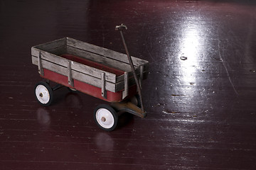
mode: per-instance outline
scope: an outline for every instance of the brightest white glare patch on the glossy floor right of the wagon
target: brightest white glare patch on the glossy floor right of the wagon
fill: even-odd
[[[177,55],[181,59],[179,69],[181,69],[182,79],[186,85],[196,85],[195,73],[198,67],[203,67],[199,62],[204,52],[204,43],[206,43],[203,32],[203,23],[197,16],[187,17],[182,23]]]

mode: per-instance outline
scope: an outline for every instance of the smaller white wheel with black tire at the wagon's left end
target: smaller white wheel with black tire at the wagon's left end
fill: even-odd
[[[35,94],[41,106],[50,106],[53,101],[53,89],[46,82],[41,81],[36,84]]]

